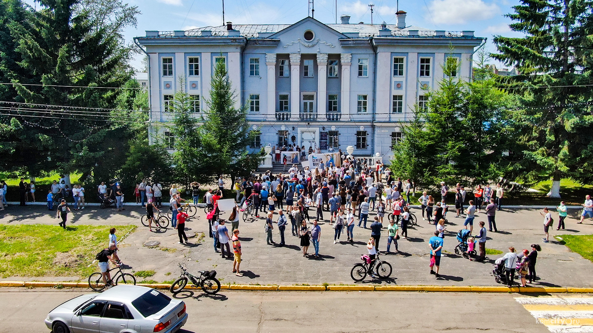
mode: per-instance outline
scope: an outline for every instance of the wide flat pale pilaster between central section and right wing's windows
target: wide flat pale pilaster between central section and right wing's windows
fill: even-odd
[[[391,53],[379,52],[377,55],[377,101],[375,102],[375,119],[388,121],[391,114]],[[377,142],[377,140],[375,140]]]

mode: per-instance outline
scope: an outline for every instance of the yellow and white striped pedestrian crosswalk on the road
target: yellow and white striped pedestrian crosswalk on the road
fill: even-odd
[[[593,297],[515,297],[553,333],[593,333]]]

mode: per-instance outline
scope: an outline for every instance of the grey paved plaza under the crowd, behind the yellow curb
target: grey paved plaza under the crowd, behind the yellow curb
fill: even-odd
[[[90,225],[139,225],[135,233],[127,236],[120,245],[120,258],[133,270],[155,270],[157,273],[150,277],[150,280],[166,281],[178,276],[178,262],[187,265],[190,271],[216,270],[217,277],[222,283],[237,284],[354,284],[350,278],[350,269],[360,261],[360,255],[366,253],[365,243],[370,235],[369,229],[354,229],[355,242],[353,244],[333,244],[334,229],[329,222],[320,223],[321,245],[320,258],[304,258],[299,246],[299,238],[291,236],[288,226],[286,235],[287,246],[279,247],[267,245],[264,232],[264,214],[259,219],[251,218],[248,221],[241,220],[241,244],[243,246],[243,262],[241,271],[244,277],[237,277],[231,272],[232,259],[222,259],[220,254],[215,253],[212,246],[212,238],[208,237],[208,224],[205,220],[203,209],[199,209],[196,217],[186,223],[187,232],[196,232],[198,235],[206,233],[201,242],[197,237],[190,239],[189,244],[177,244],[177,230],[169,227],[167,230],[151,233],[148,228],[141,225],[139,217],[144,214],[141,207],[127,206],[127,210],[118,213],[114,209],[100,210],[98,207],[87,207],[85,210],[75,211],[74,216],[69,217],[68,225],[79,224]],[[566,246],[551,238],[551,242],[544,244],[541,241],[543,236],[543,218],[538,209],[503,209],[496,214],[496,224],[499,232],[488,233],[486,242],[487,248],[499,249],[506,252],[508,246],[514,246],[517,251],[529,249],[530,244],[540,244],[542,251],[538,255],[537,275],[540,280],[534,281],[533,286],[574,286],[592,287],[593,276],[591,270],[593,264],[585,260],[581,255],[570,252]],[[0,223],[42,223],[57,225],[55,212],[47,212],[43,206],[18,207],[10,206],[5,214],[0,215]],[[382,255],[393,265],[393,274],[387,280],[366,280],[364,283],[376,284],[398,284],[398,285],[442,285],[442,286],[492,286],[496,285],[492,276],[492,263],[501,255],[487,255],[488,260],[484,262],[469,261],[460,255],[454,254],[454,248],[458,244],[455,234],[463,227],[464,219],[455,218],[454,212],[447,214],[448,225],[445,236],[444,254],[441,260],[441,277],[429,274],[428,239],[432,236],[433,225],[422,220],[419,209],[412,212],[419,218],[418,225],[409,229],[409,240],[400,239],[400,254]],[[52,214],[48,214],[52,213]],[[550,228],[550,235],[562,236],[563,234],[591,234],[593,225],[591,220],[585,224],[576,224],[578,217],[577,210],[570,210],[566,220],[566,230],[556,231]],[[229,212],[221,215],[227,219]],[[310,211],[313,215],[313,210]],[[369,219],[375,216],[371,213]],[[73,218],[72,218],[73,217]],[[324,217],[329,217],[329,212],[324,212]],[[278,219],[278,214],[274,215]],[[477,233],[477,222],[487,221],[484,213],[479,213],[474,222],[474,233]],[[554,214],[557,222],[557,216]],[[555,222],[555,223],[556,223]],[[358,223],[358,220],[357,220]],[[385,218],[384,226],[387,225]],[[107,228],[106,228],[107,229]],[[120,235],[121,236],[121,235]],[[278,228],[273,232],[275,242],[279,242]],[[342,241],[346,239],[343,235]],[[149,240],[160,241],[156,248],[142,246]],[[106,231],[107,245],[107,231]],[[384,229],[380,247],[385,251],[387,246],[387,232]],[[392,244],[392,251],[394,245]],[[232,249],[231,249],[232,251]],[[311,245],[309,252],[314,252]],[[171,273],[168,274],[167,273]],[[85,280],[87,277],[8,277],[7,280],[49,280],[68,281]]]

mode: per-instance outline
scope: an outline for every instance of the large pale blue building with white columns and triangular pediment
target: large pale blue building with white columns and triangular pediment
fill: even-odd
[[[473,31],[439,31],[397,24],[323,24],[307,17],[295,24],[203,27],[146,31],[136,37],[149,56],[153,135],[170,139],[168,103],[183,88],[196,114],[209,98],[216,62],[227,65],[237,105],[249,104],[248,121],[261,135],[251,148],[318,146],[355,148],[355,156],[390,158],[401,126],[424,107],[426,89],[445,77],[454,58],[459,79],[471,78],[471,57],[485,39]]]

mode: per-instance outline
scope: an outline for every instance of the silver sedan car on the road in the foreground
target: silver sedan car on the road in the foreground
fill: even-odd
[[[182,300],[125,284],[68,300],[45,319],[54,333],[174,333],[186,322]]]

